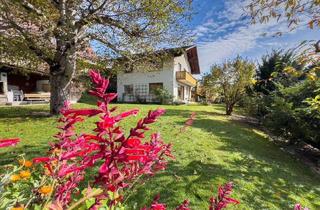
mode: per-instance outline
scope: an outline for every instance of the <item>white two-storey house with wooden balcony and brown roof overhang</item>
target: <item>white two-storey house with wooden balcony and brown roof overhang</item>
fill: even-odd
[[[117,75],[117,93],[120,102],[158,102],[154,91],[168,90],[175,102],[188,103],[192,100],[192,89],[200,74],[197,48],[187,46],[165,50],[167,56],[160,67],[146,71],[138,67],[131,72]]]

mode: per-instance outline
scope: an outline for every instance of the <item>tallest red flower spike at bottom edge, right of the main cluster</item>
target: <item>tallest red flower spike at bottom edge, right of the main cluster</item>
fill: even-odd
[[[210,198],[209,210],[221,210],[231,203],[239,204],[239,201],[229,197],[232,193],[232,188],[232,182],[225,184],[223,187],[220,186],[218,189],[218,196]]]

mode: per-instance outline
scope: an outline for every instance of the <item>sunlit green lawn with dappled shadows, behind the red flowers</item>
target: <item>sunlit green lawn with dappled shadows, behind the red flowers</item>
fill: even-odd
[[[76,107],[87,107],[77,104]],[[119,104],[120,110],[138,107],[141,113],[123,123],[129,128],[138,118],[158,105]],[[292,209],[302,203],[320,209],[320,179],[295,157],[268,141],[257,128],[232,121],[222,106],[164,106],[167,113],[152,128],[174,145],[176,160],[168,169],[132,191],[127,205],[144,206],[157,194],[170,209],[185,198],[193,209],[207,209],[207,201],[218,185],[235,183],[233,197],[241,204],[230,209]],[[44,155],[57,131],[56,117],[39,116],[45,105],[0,108],[0,137],[20,137],[21,144],[0,151],[0,165],[18,154]],[[178,134],[191,112],[197,113],[192,127]],[[92,128],[82,124],[81,131]]]

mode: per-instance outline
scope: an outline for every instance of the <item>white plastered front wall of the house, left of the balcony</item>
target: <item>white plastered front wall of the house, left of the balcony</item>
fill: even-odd
[[[117,75],[117,93],[118,93],[118,101],[133,101],[128,98],[123,98],[124,94],[124,85],[133,85],[134,90],[136,87],[145,86],[147,94],[149,92],[149,83],[163,83],[163,87],[169,91],[170,94],[174,94],[173,92],[173,80],[174,80],[174,59],[168,58],[163,61],[162,69],[145,72],[143,71],[143,67],[140,69],[136,69],[131,73],[119,73]]]

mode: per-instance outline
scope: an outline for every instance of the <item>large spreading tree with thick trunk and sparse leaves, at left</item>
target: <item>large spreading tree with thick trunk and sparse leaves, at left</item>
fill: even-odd
[[[0,0],[1,57],[49,67],[50,111],[70,97],[78,52],[89,42],[109,58],[129,58],[182,39],[190,2],[182,0]]]

